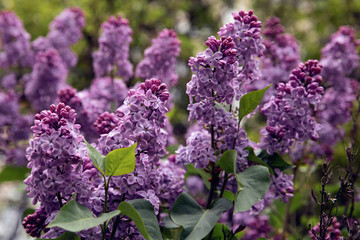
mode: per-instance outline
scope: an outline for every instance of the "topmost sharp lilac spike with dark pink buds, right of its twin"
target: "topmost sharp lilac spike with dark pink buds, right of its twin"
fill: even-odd
[[[234,23],[228,23],[220,29],[221,37],[231,37],[237,50],[236,61],[241,67],[239,80],[249,83],[260,77],[259,60],[264,45],[261,39],[261,22],[254,12],[239,11],[233,13]]]

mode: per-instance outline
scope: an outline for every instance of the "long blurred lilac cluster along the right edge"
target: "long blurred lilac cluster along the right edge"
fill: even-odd
[[[312,144],[311,152],[318,156],[331,159],[332,147],[344,136],[341,126],[351,119],[358,83],[348,77],[359,66],[359,44],[360,40],[355,39],[355,30],[343,26],[322,49],[322,75],[329,88],[325,90],[316,114],[321,124],[320,138],[318,144]]]

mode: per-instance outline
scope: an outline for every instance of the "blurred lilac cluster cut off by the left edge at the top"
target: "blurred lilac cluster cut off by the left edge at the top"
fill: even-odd
[[[30,34],[13,12],[0,13],[0,39],[0,67],[32,65]]]

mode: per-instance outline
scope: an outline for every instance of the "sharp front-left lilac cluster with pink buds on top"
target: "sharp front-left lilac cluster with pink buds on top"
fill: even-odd
[[[77,201],[82,204],[92,195],[91,183],[82,168],[87,156],[86,145],[82,142],[80,125],[75,124],[75,118],[75,110],[63,103],[51,105],[50,110],[35,115],[31,127],[33,139],[26,150],[31,175],[24,182],[33,204],[40,203],[40,210],[23,222],[26,231],[34,237],[39,237],[44,218],[47,224],[73,193],[77,193]],[[54,232],[58,231],[51,229],[46,235],[55,236]]]

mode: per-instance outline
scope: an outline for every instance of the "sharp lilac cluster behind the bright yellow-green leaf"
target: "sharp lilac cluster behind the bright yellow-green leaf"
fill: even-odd
[[[184,170],[172,161],[160,161],[166,153],[167,136],[162,130],[168,98],[169,91],[164,83],[155,78],[146,80],[137,89],[130,90],[124,104],[117,109],[117,126],[101,135],[97,148],[104,155],[137,142],[134,172],[111,179],[109,209],[116,209],[118,201],[125,195],[126,199],[149,200],[157,213],[162,201],[171,203],[182,192]],[[103,209],[100,200],[104,197],[103,187],[98,187],[96,192],[90,205],[99,214]],[[116,237],[125,236],[131,228],[130,224],[120,224]]]

